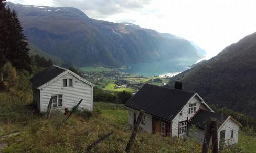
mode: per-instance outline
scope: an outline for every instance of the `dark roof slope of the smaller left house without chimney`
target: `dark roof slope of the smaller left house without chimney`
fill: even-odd
[[[52,80],[53,78],[57,77],[62,72],[66,71],[65,68],[58,67],[56,65],[52,65],[41,71],[40,73],[36,74],[32,77],[29,81],[33,84],[34,87],[38,88],[41,85],[44,85],[48,81]]]

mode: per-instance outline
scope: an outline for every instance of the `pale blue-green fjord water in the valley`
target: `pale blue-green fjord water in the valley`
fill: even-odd
[[[163,60],[148,63],[137,63],[128,65],[129,69],[121,69],[121,71],[131,74],[139,74],[147,77],[172,76],[189,69],[189,66],[195,64],[197,59],[179,59],[179,60]]]

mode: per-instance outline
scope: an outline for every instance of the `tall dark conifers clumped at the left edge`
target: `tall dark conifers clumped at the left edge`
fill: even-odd
[[[32,72],[28,43],[16,12],[0,0],[0,68],[7,62],[17,70]]]

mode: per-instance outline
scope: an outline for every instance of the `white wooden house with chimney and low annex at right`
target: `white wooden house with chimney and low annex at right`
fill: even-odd
[[[129,125],[133,126],[138,117],[139,110],[144,110],[145,115],[140,126],[148,133],[161,133],[170,137],[187,137],[190,131],[188,128],[193,127],[193,129],[199,129],[195,132],[195,134],[200,135],[198,137],[204,137],[205,129],[202,126],[191,125],[190,122],[197,122],[197,119],[201,123],[207,122],[206,119],[212,117],[212,114],[216,115],[217,113],[214,113],[197,93],[180,90],[181,88],[182,83],[180,82],[176,84],[176,89],[145,84],[125,104],[129,109]],[[209,113],[205,113],[206,117],[200,119],[200,117],[197,117],[198,112]],[[239,126],[241,126],[236,120],[232,119],[232,121],[222,122],[219,126],[219,138],[220,135],[223,135],[220,131],[226,128],[226,126],[233,130],[232,142],[227,145],[237,142],[237,132]],[[230,139],[229,133],[229,131],[226,132],[225,140]],[[199,142],[201,143],[201,141]]]

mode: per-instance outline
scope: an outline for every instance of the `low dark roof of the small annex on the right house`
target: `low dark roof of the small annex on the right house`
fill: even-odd
[[[206,125],[211,121],[211,118],[217,119],[217,127],[219,128],[221,124],[228,118],[228,116],[200,109],[189,120],[189,123],[200,127],[201,129],[206,129]]]

